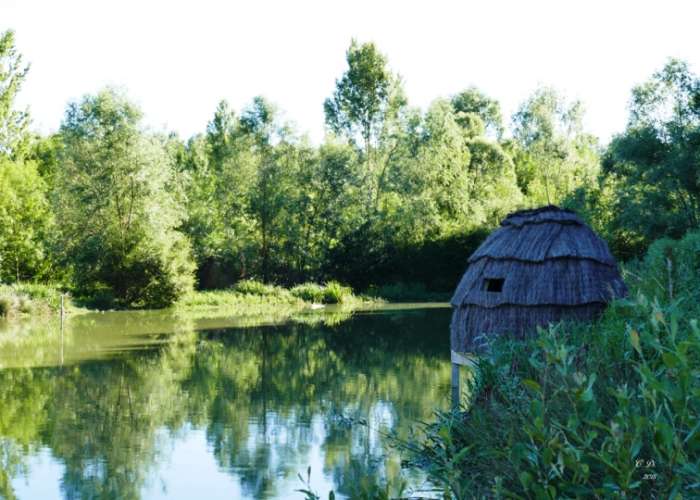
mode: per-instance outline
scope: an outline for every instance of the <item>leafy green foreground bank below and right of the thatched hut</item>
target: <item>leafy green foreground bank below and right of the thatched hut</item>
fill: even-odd
[[[700,496],[699,246],[654,244],[593,324],[493,342],[412,464],[458,499]]]

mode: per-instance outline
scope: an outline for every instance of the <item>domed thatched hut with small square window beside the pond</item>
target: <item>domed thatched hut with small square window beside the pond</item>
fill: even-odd
[[[627,288],[607,244],[571,210],[510,214],[469,257],[451,303],[452,351],[522,338],[550,322],[589,320]]]

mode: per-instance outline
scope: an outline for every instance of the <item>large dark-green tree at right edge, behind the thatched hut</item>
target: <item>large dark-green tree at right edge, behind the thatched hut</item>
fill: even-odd
[[[625,256],[698,227],[700,77],[686,63],[672,59],[633,89],[627,128],[610,143],[603,170],[616,181],[611,224],[627,235]]]

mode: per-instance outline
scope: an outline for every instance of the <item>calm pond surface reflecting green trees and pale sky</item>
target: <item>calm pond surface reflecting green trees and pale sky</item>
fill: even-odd
[[[0,498],[303,498],[309,466],[342,498],[396,478],[386,433],[449,404],[450,312],[0,324]]]

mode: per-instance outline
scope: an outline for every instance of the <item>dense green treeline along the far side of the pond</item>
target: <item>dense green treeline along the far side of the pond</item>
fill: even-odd
[[[517,208],[574,208],[622,259],[698,226],[700,80],[681,61],[632,90],[626,130],[603,147],[551,88],[507,123],[475,88],[420,110],[373,44],[346,57],[320,146],[262,97],[239,113],[222,101],[183,141],[109,88],[42,137],[14,103],[27,66],[1,34],[0,281],[126,307],[243,278],[450,290]]]

